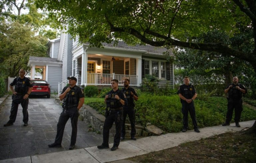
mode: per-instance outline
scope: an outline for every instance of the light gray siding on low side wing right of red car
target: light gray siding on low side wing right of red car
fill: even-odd
[[[62,67],[48,66],[48,83],[50,84],[51,92],[58,92],[58,83],[61,83]]]

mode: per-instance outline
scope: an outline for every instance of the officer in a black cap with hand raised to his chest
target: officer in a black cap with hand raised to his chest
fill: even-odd
[[[77,140],[77,121],[79,116],[79,109],[83,106],[85,96],[83,90],[75,85],[77,78],[68,77],[69,86],[63,88],[59,95],[59,100],[63,100],[62,108],[63,111],[59,116],[57,124],[57,135],[53,144],[49,144],[51,147],[61,147],[62,137],[65,129],[65,125],[69,118],[71,119],[72,135],[69,149],[74,149],[75,142]]]

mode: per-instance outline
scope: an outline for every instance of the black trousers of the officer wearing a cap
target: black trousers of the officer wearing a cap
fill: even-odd
[[[75,142],[77,141],[78,116],[79,116],[79,112],[77,110],[77,107],[73,107],[73,108],[66,110],[66,113],[65,113],[65,110],[62,111],[61,115],[59,116],[59,121],[57,124],[57,135],[55,138],[55,143],[61,144],[66,123],[70,118],[71,126],[72,126],[72,134],[71,134],[70,144],[72,144],[72,145],[75,144]]]

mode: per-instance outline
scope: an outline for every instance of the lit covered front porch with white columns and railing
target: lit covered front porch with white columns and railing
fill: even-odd
[[[145,51],[123,50],[117,48],[88,48],[81,45],[75,48],[72,57],[72,76],[77,77],[80,86],[111,86],[111,80],[117,79],[122,85],[123,79],[129,79],[131,86],[141,84],[142,59]],[[59,83],[59,93],[68,80]]]

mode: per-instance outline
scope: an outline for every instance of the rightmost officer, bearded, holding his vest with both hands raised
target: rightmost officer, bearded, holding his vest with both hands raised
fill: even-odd
[[[238,83],[238,77],[233,77],[233,83],[228,85],[224,90],[225,93],[228,93],[228,101],[227,101],[227,115],[226,121],[222,124],[222,126],[229,126],[230,121],[232,119],[233,110],[235,109],[235,126],[241,127],[239,125],[239,121],[241,118],[241,113],[243,110],[242,107],[242,94],[247,93],[247,89]]]

